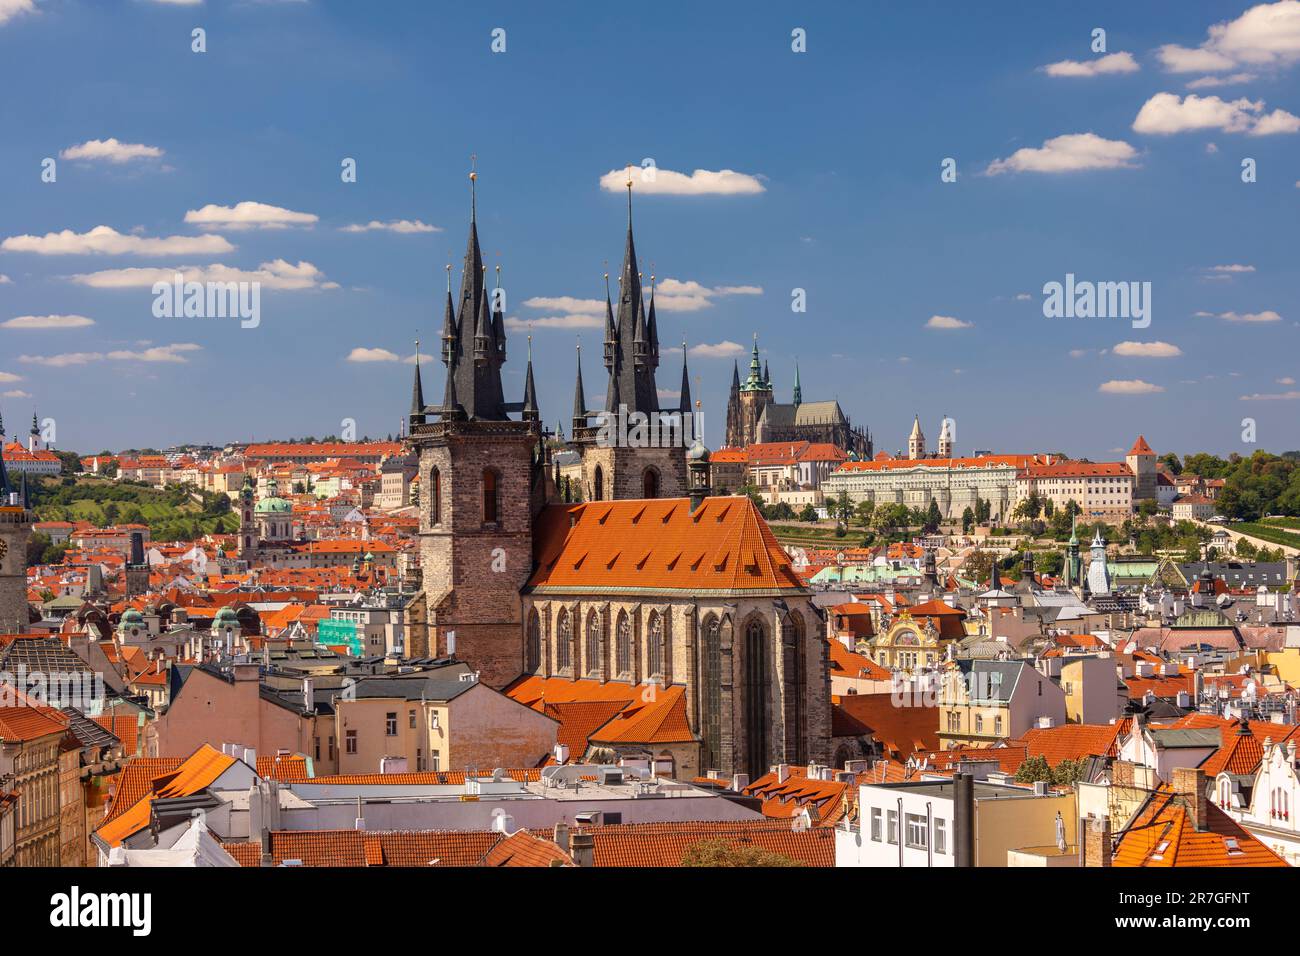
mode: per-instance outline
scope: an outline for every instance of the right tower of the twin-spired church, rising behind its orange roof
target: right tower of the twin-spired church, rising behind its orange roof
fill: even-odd
[[[655,385],[659,326],[651,276],[649,312],[632,235],[632,179],[628,187],[628,235],[619,272],[619,308],[604,290],[604,368],[608,384],[597,425],[573,408],[573,444],[582,455],[582,499],[684,498],[686,449],[681,407],[660,408]],[[578,378],[581,380],[581,364]],[[578,384],[577,389],[581,389]],[[575,398],[577,394],[575,395]],[[584,408],[582,412],[586,412]],[[689,415],[689,408],[685,415]]]

